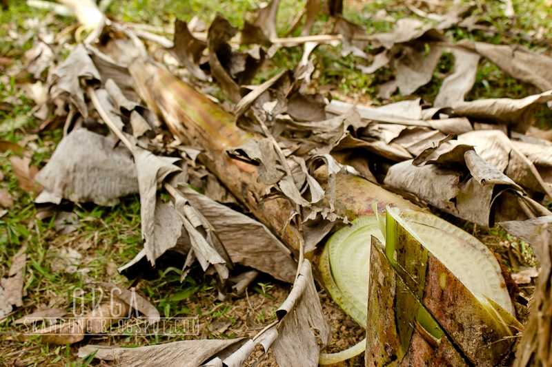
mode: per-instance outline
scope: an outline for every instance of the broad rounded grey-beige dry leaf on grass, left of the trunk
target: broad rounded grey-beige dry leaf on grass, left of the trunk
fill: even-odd
[[[132,154],[113,148],[113,140],[77,129],[61,140],[37,181],[56,196],[73,202],[115,205],[139,191]]]

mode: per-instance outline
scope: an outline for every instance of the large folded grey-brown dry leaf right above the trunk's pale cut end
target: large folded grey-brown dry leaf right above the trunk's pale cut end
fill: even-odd
[[[471,145],[458,144],[422,167],[412,163],[406,160],[393,165],[385,184],[484,227],[493,227],[499,218],[523,220],[550,213],[511,178],[477,156]]]

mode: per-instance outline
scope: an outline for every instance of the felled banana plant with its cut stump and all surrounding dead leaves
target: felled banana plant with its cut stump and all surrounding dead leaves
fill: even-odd
[[[110,270],[130,281],[128,289],[88,277],[88,286],[119,295],[74,324],[41,328],[40,343],[81,343],[81,361],[96,357],[119,366],[552,363],[552,143],[548,131],[535,127],[535,114],[549,113],[552,105],[550,56],[453,39],[447,30],[502,32],[462,4],[437,14],[438,4],[408,2],[417,19],[368,34],[344,16],[341,1],[306,1],[285,32],[277,27],[279,0],[259,6],[241,29],[216,14],[210,24],[176,19],[170,32],[106,17],[109,1],[28,3],[75,17],[79,25],[57,36],[39,28],[25,54],[19,79],[34,101],[28,114],[41,121],[38,134],[57,130],[62,137],[37,164],[26,145],[1,141],[12,174],[32,198],[37,220],[50,220],[63,235],[83,225],[70,205],[112,207],[137,194],[139,222],[130,232],[139,227],[141,235],[132,244],[134,257]],[[505,15],[515,15],[511,2]],[[321,47],[355,60],[355,72],[390,74],[379,89],[386,103],[353,103],[324,92],[313,56]],[[259,78],[286,48],[302,50],[294,65]],[[451,71],[425,101],[415,94],[433,83],[444,54],[453,55]],[[483,61],[531,93],[466,100]],[[0,191],[0,204],[2,216],[12,209],[8,191]],[[473,234],[500,226],[529,244],[540,268],[512,274],[522,265],[513,264],[512,250],[508,269],[455,225],[466,222]],[[87,241],[96,246],[97,234]],[[167,266],[171,257],[177,260]],[[29,258],[40,269],[22,242],[0,288],[0,313],[14,326],[5,339],[14,344],[38,339],[18,324],[46,326],[67,311],[52,302],[14,319],[32,305],[25,294],[34,276]],[[83,286],[79,258],[69,248],[56,261],[59,269],[79,273]],[[152,271],[161,279],[175,271],[181,283],[196,271],[213,280],[217,300],[246,297],[250,333],[228,337],[230,322],[197,339],[137,348],[85,345],[132,310],[132,320],[171,317],[170,304],[162,315],[165,301],[134,292]],[[261,274],[292,286],[273,319],[259,324],[249,315],[248,287]],[[528,302],[516,283],[537,276],[535,294],[524,293]],[[317,284],[331,301],[322,300]],[[258,292],[266,297],[265,291]],[[330,349],[327,302],[365,330],[339,351]],[[86,332],[73,328],[85,324]],[[263,362],[267,355],[273,359]]]

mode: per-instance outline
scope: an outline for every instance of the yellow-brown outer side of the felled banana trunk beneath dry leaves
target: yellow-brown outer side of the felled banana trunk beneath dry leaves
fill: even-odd
[[[233,160],[226,153],[252,138],[235,125],[234,117],[161,67],[137,61],[129,70],[141,98],[150,109],[161,111],[172,134],[187,145],[202,147],[204,153],[198,159],[259,221],[275,233],[282,233],[282,239],[292,249],[299,249],[299,238],[286,225],[293,206],[284,199],[261,201],[266,185],[257,182],[259,167]],[[420,210],[400,196],[352,174],[339,172],[335,187],[335,213],[349,220],[373,213],[373,202],[378,202],[380,211],[385,205]]]

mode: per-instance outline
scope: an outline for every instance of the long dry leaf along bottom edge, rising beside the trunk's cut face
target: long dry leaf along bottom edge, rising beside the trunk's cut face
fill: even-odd
[[[292,291],[277,311],[279,328],[264,328],[253,339],[191,340],[159,346],[119,348],[113,351],[119,365],[138,366],[242,366],[257,344],[264,355],[273,348],[279,366],[317,366],[319,350],[331,340],[328,321],[315,288],[311,264],[305,260]],[[275,323],[276,324],[276,323]],[[321,344],[317,342],[317,330]],[[262,355],[262,357],[264,357]],[[260,357],[260,359],[262,359]]]

